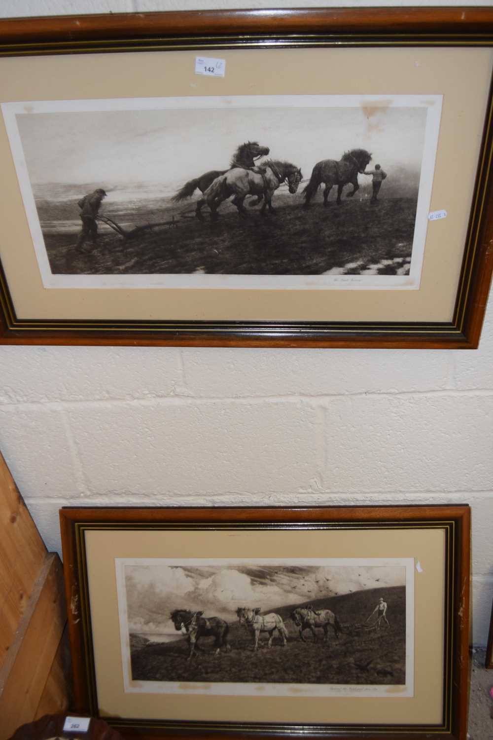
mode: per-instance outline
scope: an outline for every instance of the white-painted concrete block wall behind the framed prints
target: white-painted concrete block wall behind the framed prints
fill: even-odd
[[[344,4],[2,0],[0,16]],[[50,549],[66,504],[469,503],[486,642],[493,297],[477,351],[1,346],[0,449]]]

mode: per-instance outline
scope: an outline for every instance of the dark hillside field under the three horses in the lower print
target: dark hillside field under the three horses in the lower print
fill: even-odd
[[[390,629],[385,625],[377,632],[355,625],[364,622],[384,596],[388,604]],[[289,619],[291,605],[276,609],[288,629],[288,645],[274,636],[267,647],[267,633],[262,633],[262,647],[254,651],[254,638],[242,625],[231,624],[229,643],[215,655],[214,639],[202,638],[203,651],[188,661],[186,640],[155,643],[143,638],[130,638],[132,678],[137,681],[171,682],[254,682],[315,684],[404,684],[405,683],[405,589],[393,587],[358,591],[313,602],[317,609],[328,608],[344,625],[336,639],[329,628],[328,642],[322,642],[323,630],[316,629],[319,642],[313,643],[310,630],[302,642],[296,625]],[[204,616],[214,616],[208,615]],[[352,624],[353,627],[348,625]],[[275,635],[277,633],[274,633]]]

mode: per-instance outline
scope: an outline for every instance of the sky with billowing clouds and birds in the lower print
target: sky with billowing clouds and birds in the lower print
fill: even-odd
[[[124,565],[131,630],[172,631],[169,613],[204,610],[232,621],[239,606],[262,611],[324,597],[405,585],[404,565]]]

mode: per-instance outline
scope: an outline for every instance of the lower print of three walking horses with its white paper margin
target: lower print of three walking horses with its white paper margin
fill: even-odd
[[[157,559],[118,568],[130,682],[406,684],[404,565]]]

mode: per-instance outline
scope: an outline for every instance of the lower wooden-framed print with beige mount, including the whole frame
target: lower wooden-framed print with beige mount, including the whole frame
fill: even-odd
[[[467,506],[60,517],[75,710],[129,737],[465,740]]]

